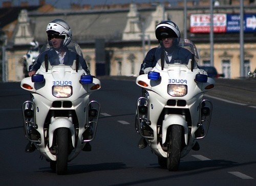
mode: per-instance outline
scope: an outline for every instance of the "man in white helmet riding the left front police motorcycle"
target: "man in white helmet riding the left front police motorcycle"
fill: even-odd
[[[72,30],[66,21],[54,19],[47,25],[46,33],[50,49],[39,54],[36,61],[30,67],[29,76],[35,74],[40,68],[42,62],[45,61],[46,54],[51,65],[72,65],[70,63],[76,60],[76,52],[69,50],[67,47],[71,41]],[[79,62],[87,74],[90,75],[86,61],[81,56],[79,56]],[[33,152],[35,149],[36,147],[33,142],[29,142],[25,148],[25,152]],[[82,150],[91,151],[90,143],[87,142]]]

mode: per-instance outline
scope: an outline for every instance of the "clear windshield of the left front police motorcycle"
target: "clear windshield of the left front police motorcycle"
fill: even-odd
[[[42,61],[41,66],[48,70],[59,65],[72,67],[73,70],[80,70],[85,65],[82,50],[78,43],[74,41],[71,41],[66,48],[63,64],[59,64],[58,53],[49,44],[42,46],[39,57],[41,58],[40,61]]]

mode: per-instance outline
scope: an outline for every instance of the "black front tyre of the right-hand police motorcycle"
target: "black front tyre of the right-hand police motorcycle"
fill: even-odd
[[[177,171],[180,165],[180,154],[182,148],[183,127],[172,125],[170,129],[169,144],[167,147],[167,169]]]

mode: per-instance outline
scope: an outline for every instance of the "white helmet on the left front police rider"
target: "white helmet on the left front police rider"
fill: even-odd
[[[58,35],[60,38],[62,38],[64,40],[63,46],[67,46],[72,37],[71,28],[69,27],[68,23],[62,19],[54,19],[51,21],[46,27],[46,33],[48,35],[48,41],[51,40],[52,35]]]

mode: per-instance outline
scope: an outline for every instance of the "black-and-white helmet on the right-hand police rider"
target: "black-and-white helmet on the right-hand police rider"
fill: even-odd
[[[161,21],[156,26],[155,33],[158,41],[165,38],[178,38],[178,40],[180,39],[180,30],[177,24],[169,20]]]

